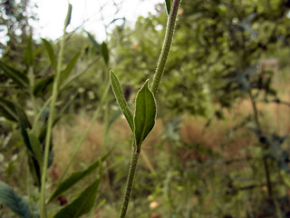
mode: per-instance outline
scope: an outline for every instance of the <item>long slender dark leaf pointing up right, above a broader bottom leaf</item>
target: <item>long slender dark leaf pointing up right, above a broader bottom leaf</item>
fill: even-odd
[[[104,155],[101,158],[101,163],[111,154],[111,151]],[[79,171],[79,172],[75,172],[72,173],[66,180],[64,180],[62,183],[59,183],[56,187],[56,189],[54,190],[53,194],[51,195],[51,197],[49,198],[48,202],[53,201],[53,199],[57,198],[58,196],[60,196],[62,193],[64,193],[65,191],[67,191],[68,189],[70,189],[75,183],[78,183],[79,181],[81,181],[84,177],[86,177],[87,175],[91,174],[92,172],[94,172],[95,169],[97,169],[97,167],[99,167],[100,164],[100,160],[95,161],[94,163],[92,163],[91,165],[89,165],[86,169],[84,169],[83,171]]]

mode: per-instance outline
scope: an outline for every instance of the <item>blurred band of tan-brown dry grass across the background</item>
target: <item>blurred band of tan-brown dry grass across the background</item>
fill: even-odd
[[[290,102],[290,92],[287,92],[285,86],[281,94],[281,99]],[[287,88],[289,90],[289,88]],[[290,108],[285,105],[278,104],[257,104],[258,110],[262,114],[263,128],[276,134],[290,133]],[[202,144],[206,148],[212,149],[215,153],[221,154],[226,160],[233,158],[242,158],[247,155],[247,147],[256,143],[256,136],[252,134],[247,126],[233,132],[232,129],[248,115],[253,114],[253,109],[249,101],[243,101],[234,105],[231,111],[225,112],[225,120],[214,120],[208,128],[204,128],[207,120],[203,118],[192,117],[185,115],[180,129],[181,142],[185,144]],[[77,116],[74,118],[73,125],[60,124],[53,132],[55,159],[57,171],[62,171],[64,165],[68,162],[73,153],[75,140],[78,139],[82,132],[86,129],[90,122],[89,117]],[[249,124],[254,126],[254,124]],[[161,131],[164,125],[157,120],[151,134],[145,140],[142,151],[143,158],[140,163],[147,167],[150,171],[154,170],[152,156],[160,153],[156,145],[161,142]],[[131,130],[123,117],[119,118],[114,124],[108,135],[107,144],[103,143],[103,126],[96,122],[92,126],[92,130],[88,134],[80,153],[77,156],[77,161],[73,164],[71,171],[78,169],[80,163],[92,163],[100,154],[108,151],[114,144],[129,144],[131,141]],[[288,142],[289,143],[289,142]],[[131,149],[125,146],[126,149],[119,149],[116,153],[124,154],[130,157]],[[170,153],[168,145],[164,144],[164,149]],[[103,151],[102,151],[103,150]],[[194,149],[184,148],[180,151],[181,159],[201,158],[206,159],[206,156],[198,157]],[[179,155],[179,154],[178,154]]]

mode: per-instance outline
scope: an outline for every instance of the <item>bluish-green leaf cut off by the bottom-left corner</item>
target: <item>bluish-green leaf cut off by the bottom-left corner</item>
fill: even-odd
[[[14,192],[13,188],[0,181],[0,201],[4,202],[19,217],[31,218],[29,205]]]

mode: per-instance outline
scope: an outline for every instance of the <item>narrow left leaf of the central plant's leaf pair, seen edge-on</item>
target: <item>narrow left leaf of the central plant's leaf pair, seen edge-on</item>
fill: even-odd
[[[121,112],[126,117],[127,122],[130,125],[131,131],[133,132],[134,131],[133,114],[131,113],[131,110],[122,93],[120,80],[118,79],[117,75],[113,73],[112,71],[110,72],[110,79],[111,79],[111,88],[121,108]]]

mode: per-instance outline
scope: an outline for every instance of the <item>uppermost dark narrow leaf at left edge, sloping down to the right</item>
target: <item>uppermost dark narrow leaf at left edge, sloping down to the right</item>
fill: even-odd
[[[0,69],[3,70],[3,73],[12,79],[15,84],[19,84],[24,87],[29,85],[28,77],[24,73],[21,73],[20,71],[14,69],[2,61],[0,61]]]

